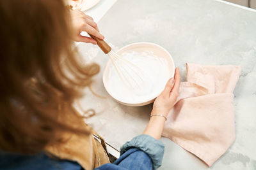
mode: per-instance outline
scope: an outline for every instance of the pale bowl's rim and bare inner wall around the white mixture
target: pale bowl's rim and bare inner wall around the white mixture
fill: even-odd
[[[134,51],[135,52],[152,51],[152,52],[154,52],[154,55],[156,55],[157,57],[163,57],[168,62],[168,66],[170,66],[170,78],[174,76],[175,67],[174,67],[174,62],[173,62],[172,56],[163,47],[156,45],[154,43],[145,43],[145,42],[132,43],[131,45],[124,46],[123,48],[118,50],[116,53],[118,55],[122,55],[122,53],[134,52]],[[156,97],[159,96],[159,94],[163,90],[163,89],[159,89],[159,91],[160,91],[159,94],[157,94],[155,96],[145,97],[145,99],[143,101],[141,101],[140,103],[127,103],[125,101],[122,101],[121,97],[118,98],[118,97],[113,96],[111,94],[111,90],[109,90],[108,81],[111,81],[111,80],[108,80],[108,71],[109,71],[110,66],[111,66],[111,60],[108,60],[106,67],[104,69],[103,76],[102,76],[103,84],[104,84],[104,87],[107,90],[108,94],[110,96],[112,96],[118,103],[121,103],[121,104],[124,104],[127,106],[144,106],[144,105],[153,103],[154,100],[156,99]],[[167,82],[167,80],[166,80],[166,82]],[[122,94],[120,94],[120,95],[122,95]]]

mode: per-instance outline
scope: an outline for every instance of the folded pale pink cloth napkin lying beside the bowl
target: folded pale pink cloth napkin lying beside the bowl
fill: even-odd
[[[235,139],[232,94],[241,66],[186,64],[187,81],[170,111],[163,136],[211,166]]]

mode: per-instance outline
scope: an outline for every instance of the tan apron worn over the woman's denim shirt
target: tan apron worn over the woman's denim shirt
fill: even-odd
[[[101,143],[93,137],[95,132],[90,135],[71,134],[66,132],[63,138],[67,142],[58,145],[51,145],[45,148],[45,152],[60,158],[76,161],[84,169],[95,169],[102,164],[109,163],[108,152],[104,140]]]

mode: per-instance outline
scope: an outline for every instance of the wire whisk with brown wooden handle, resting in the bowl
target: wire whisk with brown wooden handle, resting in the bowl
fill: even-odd
[[[92,34],[89,35],[95,39],[95,41],[97,41],[97,45],[100,47],[100,49],[104,53],[108,54],[109,59],[115,67],[116,73],[118,73],[118,76],[125,83],[125,85],[127,85],[129,88],[140,89],[143,86],[143,78],[145,76],[140,67],[113,52],[112,48],[104,40],[99,39]]]

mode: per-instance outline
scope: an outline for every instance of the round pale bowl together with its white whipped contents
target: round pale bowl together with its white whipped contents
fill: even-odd
[[[150,104],[163,91],[167,81],[174,76],[175,66],[170,53],[154,43],[133,43],[116,52],[132,62],[143,72],[143,87],[131,88],[116,73],[111,60],[103,73],[103,83],[108,94],[118,103],[127,106]]]

